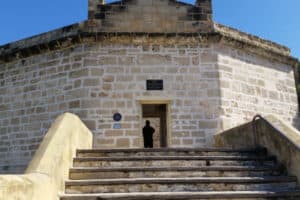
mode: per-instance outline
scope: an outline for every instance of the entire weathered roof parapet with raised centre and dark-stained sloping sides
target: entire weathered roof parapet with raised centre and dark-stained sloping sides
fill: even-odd
[[[197,0],[195,5],[176,0],[121,0],[108,4],[104,0],[89,0],[87,21],[0,46],[0,63],[77,43],[102,42],[103,38],[128,36],[134,40],[135,37],[145,36],[180,37],[188,41],[203,37],[210,42],[225,42],[254,54],[296,65],[298,60],[291,56],[289,48],[214,23],[211,9],[211,0]],[[193,42],[203,41],[196,39]]]

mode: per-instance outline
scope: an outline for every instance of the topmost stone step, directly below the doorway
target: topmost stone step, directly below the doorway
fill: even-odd
[[[264,148],[256,149],[216,149],[216,148],[155,148],[155,149],[90,149],[77,150],[77,157],[115,157],[115,156],[265,156]]]

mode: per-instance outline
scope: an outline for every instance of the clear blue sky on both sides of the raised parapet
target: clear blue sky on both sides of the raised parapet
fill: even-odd
[[[3,0],[0,45],[83,21],[87,19],[87,3]],[[213,0],[213,12],[214,21],[285,45],[292,56],[300,58],[300,0]]]

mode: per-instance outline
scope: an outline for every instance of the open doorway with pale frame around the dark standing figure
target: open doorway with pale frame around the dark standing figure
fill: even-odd
[[[153,147],[167,147],[167,105],[166,104],[142,104],[143,126],[149,120],[155,129],[153,135]]]

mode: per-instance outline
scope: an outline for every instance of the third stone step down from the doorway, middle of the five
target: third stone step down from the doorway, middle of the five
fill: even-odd
[[[278,176],[281,167],[203,166],[203,167],[119,167],[72,168],[70,179],[111,179],[145,177],[242,177]]]

